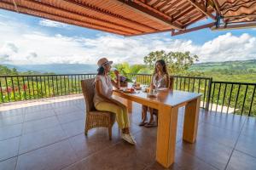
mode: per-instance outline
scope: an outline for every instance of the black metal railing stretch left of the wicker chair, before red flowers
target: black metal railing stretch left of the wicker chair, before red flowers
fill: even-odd
[[[80,80],[95,74],[1,76],[0,103],[80,94]]]

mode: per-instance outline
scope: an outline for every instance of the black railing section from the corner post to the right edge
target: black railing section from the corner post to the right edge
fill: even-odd
[[[212,82],[210,111],[256,116],[256,83]]]

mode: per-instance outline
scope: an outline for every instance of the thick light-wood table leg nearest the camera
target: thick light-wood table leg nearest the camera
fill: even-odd
[[[156,161],[170,167],[175,159],[178,107],[160,105],[158,114]]]

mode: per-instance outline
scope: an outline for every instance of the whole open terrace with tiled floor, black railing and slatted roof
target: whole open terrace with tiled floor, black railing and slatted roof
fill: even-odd
[[[2,0],[0,8],[123,36],[255,27],[255,1]],[[181,12],[183,11],[183,12]],[[198,20],[212,20],[190,27]],[[149,75],[131,75],[148,84]],[[0,77],[0,169],[164,169],[155,161],[157,127],[139,127],[141,105],[129,114],[132,146],[104,128],[84,136],[80,81],[95,74]],[[197,139],[182,139],[178,110],[175,161],[169,169],[255,169],[256,83],[174,77],[174,89],[201,93]]]

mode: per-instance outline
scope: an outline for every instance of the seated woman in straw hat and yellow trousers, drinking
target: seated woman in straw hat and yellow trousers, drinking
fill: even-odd
[[[116,121],[118,122],[119,128],[122,130],[122,139],[129,142],[130,144],[136,144],[135,139],[131,136],[129,130],[129,117],[127,108],[119,101],[112,98],[113,86],[119,88],[119,84],[113,82],[108,76],[113,61],[108,61],[106,58],[98,60],[97,65],[98,73],[95,78],[95,96],[94,105],[98,111],[110,111],[116,114]],[[115,71],[117,82],[119,82],[119,71]]]

